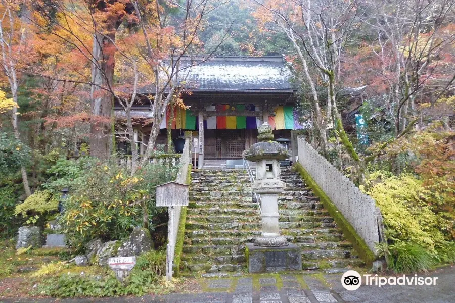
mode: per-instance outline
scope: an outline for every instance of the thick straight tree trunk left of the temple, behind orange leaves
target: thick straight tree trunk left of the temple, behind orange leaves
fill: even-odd
[[[108,35],[112,40],[115,34]],[[95,34],[93,43],[91,109],[90,124],[90,156],[107,159],[113,152],[112,111],[113,96],[102,87],[107,88],[114,81],[114,54],[104,50],[112,44],[102,34]]]

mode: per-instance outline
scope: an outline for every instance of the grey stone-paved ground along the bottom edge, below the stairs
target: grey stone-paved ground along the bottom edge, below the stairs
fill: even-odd
[[[65,299],[61,303],[455,303],[455,266],[434,271],[435,286],[362,285],[355,291],[341,286],[341,274],[254,275],[239,278],[201,279],[199,294],[105,299]],[[213,291],[212,291],[213,290]],[[53,299],[0,299],[0,302],[54,302]]]

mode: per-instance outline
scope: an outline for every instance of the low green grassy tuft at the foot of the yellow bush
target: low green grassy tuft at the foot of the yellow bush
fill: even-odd
[[[379,256],[385,257],[387,266],[395,273],[427,272],[434,265],[432,257],[422,246],[403,243],[381,243],[378,245]]]

